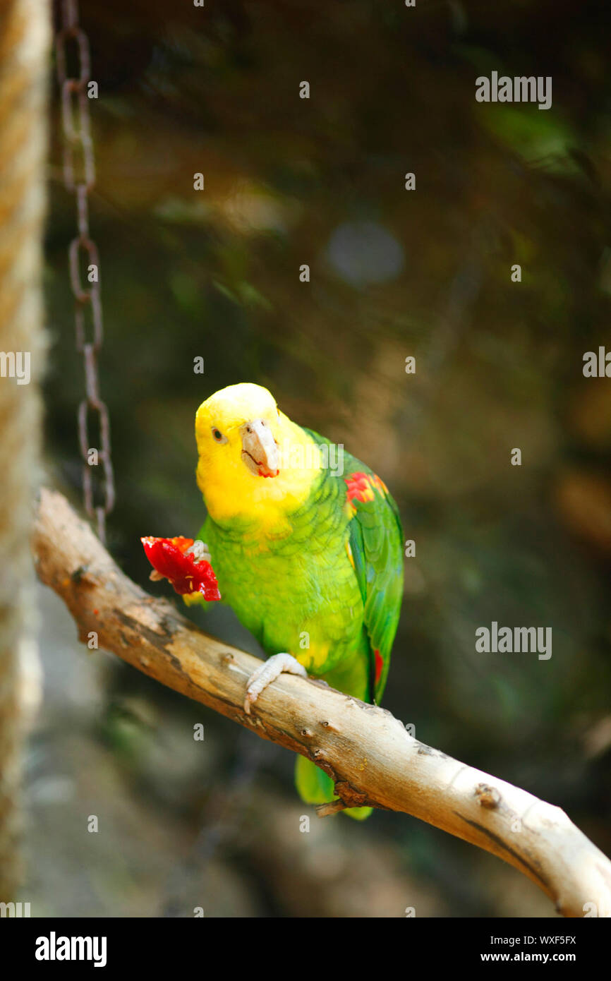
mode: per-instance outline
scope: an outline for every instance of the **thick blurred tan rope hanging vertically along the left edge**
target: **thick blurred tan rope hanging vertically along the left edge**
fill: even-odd
[[[46,0],[2,0],[1,6],[0,902],[6,903],[22,875],[23,680],[35,628],[29,535],[39,477],[37,383],[44,354],[41,240],[50,14]]]

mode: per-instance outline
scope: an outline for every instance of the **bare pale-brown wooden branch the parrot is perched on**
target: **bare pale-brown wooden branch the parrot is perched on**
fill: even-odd
[[[246,715],[257,658],[132,583],[55,491],[41,492],[33,547],[39,578],[62,596],[81,641],[95,631],[100,646],[162,685],[314,760],[339,806],[413,814],[514,865],[565,916],[611,915],[611,862],[559,807],[419,743],[383,708],[321,682],[281,675]]]

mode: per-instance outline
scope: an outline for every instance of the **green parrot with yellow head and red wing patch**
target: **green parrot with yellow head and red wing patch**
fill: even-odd
[[[268,654],[244,710],[282,672],[379,703],[403,596],[403,532],[385,484],[251,383],[202,402],[195,439],[207,517],[191,550],[212,562],[223,601]],[[308,804],[336,800],[331,777],[302,755],[295,784]],[[363,820],[372,809],[343,813]]]

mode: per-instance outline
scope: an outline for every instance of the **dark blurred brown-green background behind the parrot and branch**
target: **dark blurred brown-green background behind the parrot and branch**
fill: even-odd
[[[416,542],[384,705],[610,852],[611,382],[582,369],[611,337],[611,8],[79,6],[99,84],[111,551],[148,585],[139,536],[193,536],[204,517],[198,404],[234,382],[270,387],[382,476]],[[551,76],[552,108],[476,102],[492,71]],[[51,135],[47,465],[78,502],[57,87]],[[60,601],[41,589],[41,602],[26,891],[39,913],[553,914],[518,872],[405,815],[313,817],[300,833],[291,754],[77,645]],[[189,615],[257,651],[229,610]],[[551,659],[477,653],[492,620],[551,627]]]

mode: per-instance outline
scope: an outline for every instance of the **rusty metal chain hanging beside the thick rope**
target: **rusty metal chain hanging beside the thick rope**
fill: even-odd
[[[68,76],[67,52],[74,48],[78,72]],[[62,0],[61,28],[56,38],[57,79],[62,96],[64,133],[64,185],[75,195],[78,233],[70,243],[68,261],[75,297],[76,350],[82,355],[85,397],[78,405],[78,446],[82,457],[82,493],[85,511],[97,520],[97,531],[106,542],[106,515],[115,505],[115,482],[110,445],[110,419],[100,398],[97,355],[103,341],[100,263],[95,242],[89,235],[89,192],[95,185],[95,159],[89,124],[89,41],[78,25],[77,0]],[[80,267],[87,269],[87,284],[81,283]],[[87,337],[86,321],[90,321]],[[91,445],[88,427],[97,418],[100,447]],[[93,467],[102,464],[102,476],[93,481]],[[94,503],[103,501],[103,503]]]

